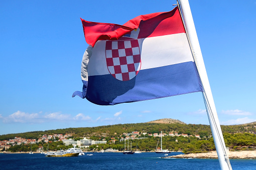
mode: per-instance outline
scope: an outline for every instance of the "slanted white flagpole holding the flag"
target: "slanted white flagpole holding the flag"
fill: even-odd
[[[178,0],[177,0],[177,3],[179,6]],[[217,116],[217,111],[215,108],[209,80],[207,77],[204,60],[203,60],[202,52],[200,49],[200,45],[199,45],[199,41],[196,33],[196,28],[194,25],[194,21],[193,21],[190,6],[189,6],[189,1],[180,0],[180,4],[181,4],[182,16],[184,19],[186,32],[192,48],[191,50],[193,53],[193,57],[195,60],[195,64],[196,64],[199,76],[201,78],[202,86],[204,89],[204,92],[203,92],[204,103],[205,103],[211,131],[212,131],[212,135],[215,143],[215,148],[218,154],[220,167],[222,170],[223,169],[230,170],[232,169],[232,167],[226,152],[226,146],[225,146],[223,134],[221,131],[221,127],[219,124],[219,119]]]

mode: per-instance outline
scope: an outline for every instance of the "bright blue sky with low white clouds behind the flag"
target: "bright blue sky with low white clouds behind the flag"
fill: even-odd
[[[79,97],[80,18],[124,24],[176,1],[1,1],[0,135],[161,118],[209,124],[201,93],[99,106]],[[190,1],[220,124],[256,121],[256,1]]]

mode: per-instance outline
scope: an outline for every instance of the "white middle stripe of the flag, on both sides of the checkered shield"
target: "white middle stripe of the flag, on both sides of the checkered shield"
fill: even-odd
[[[138,39],[138,42],[141,50],[140,70],[194,61],[185,33]],[[89,76],[110,74],[105,47],[105,40],[95,44],[88,65]]]

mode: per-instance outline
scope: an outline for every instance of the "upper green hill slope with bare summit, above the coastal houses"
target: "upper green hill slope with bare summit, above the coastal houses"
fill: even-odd
[[[179,134],[186,133],[188,135],[199,134],[202,137],[211,136],[210,125],[203,124],[185,124],[180,120],[169,119],[166,123],[165,119],[154,120],[147,123],[127,123],[127,124],[115,124],[105,125],[97,127],[78,127],[78,128],[64,128],[45,131],[31,131],[24,133],[13,133],[0,135],[0,140],[13,139],[16,136],[22,138],[34,138],[38,139],[43,134],[72,134],[73,137],[115,137],[120,136],[123,133],[131,133],[132,131],[146,132],[146,133],[159,133],[161,130],[163,133],[176,131]],[[156,122],[156,123],[155,123]],[[255,132],[256,123],[244,124],[244,125],[221,125],[222,132],[225,133],[244,133]]]

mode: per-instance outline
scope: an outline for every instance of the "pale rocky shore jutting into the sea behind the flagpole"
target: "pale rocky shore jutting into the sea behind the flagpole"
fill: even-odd
[[[256,151],[228,151],[229,159],[256,159]],[[216,151],[166,156],[162,158],[218,158]]]

